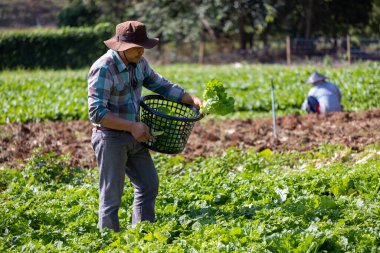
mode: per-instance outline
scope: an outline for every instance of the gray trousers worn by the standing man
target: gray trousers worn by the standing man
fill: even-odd
[[[94,129],[91,142],[99,169],[99,229],[120,230],[118,211],[125,175],[135,188],[132,224],[154,222],[158,175],[149,150],[121,131]]]

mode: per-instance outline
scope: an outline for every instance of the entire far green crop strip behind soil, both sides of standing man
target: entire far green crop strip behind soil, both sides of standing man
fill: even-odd
[[[172,65],[155,68],[172,82],[202,97],[205,84],[219,79],[236,100],[236,110],[271,111],[270,84],[275,85],[279,113],[298,113],[310,85],[308,75],[318,70],[343,93],[346,110],[380,107],[380,65],[362,63],[340,68],[281,65]],[[0,123],[87,118],[87,69],[0,72]],[[144,91],[144,94],[147,94]]]

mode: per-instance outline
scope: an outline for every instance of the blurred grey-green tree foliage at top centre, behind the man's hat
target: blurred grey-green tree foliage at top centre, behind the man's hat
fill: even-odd
[[[158,0],[135,4],[134,17],[170,41],[198,42],[229,38],[240,49],[252,47],[253,36],[264,30],[269,3],[262,0]]]

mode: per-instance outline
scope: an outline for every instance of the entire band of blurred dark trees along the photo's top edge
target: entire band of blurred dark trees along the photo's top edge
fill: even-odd
[[[1,27],[117,24],[140,20],[161,43],[214,41],[219,48],[252,49],[284,35],[336,37],[347,33],[377,37],[379,0],[2,0]],[[17,14],[17,15],[15,15]],[[57,15],[58,14],[58,15]],[[324,18],[320,18],[324,17]],[[311,29],[312,28],[312,29]],[[220,44],[220,41],[228,43]],[[253,41],[255,40],[255,41]]]

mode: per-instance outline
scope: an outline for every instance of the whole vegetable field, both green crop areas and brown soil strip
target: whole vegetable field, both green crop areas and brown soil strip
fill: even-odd
[[[236,112],[198,122],[179,155],[152,152],[157,221],[131,226],[128,182],[119,233],[96,224],[87,70],[0,72],[0,252],[380,251],[378,63],[155,69],[198,96],[221,80]],[[313,70],[346,112],[299,110]]]

